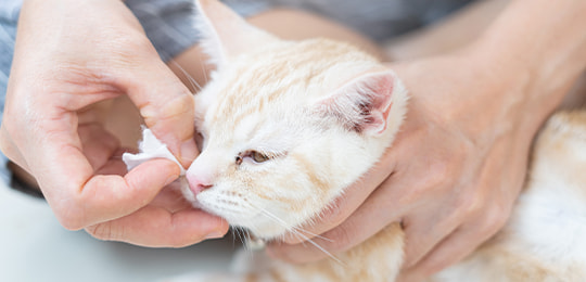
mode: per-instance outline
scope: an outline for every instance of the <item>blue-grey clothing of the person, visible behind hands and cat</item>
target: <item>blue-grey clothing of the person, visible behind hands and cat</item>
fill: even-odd
[[[0,5],[0,110],[4,108],[8,77],[14,52],[16,23],[23,0],[2,0]],[[428,25],[473,0],[225,0],[243,16],[270,8],[303,9],[337,21],[373,40]],[[199,33],[193,28],[193,0],[127,0],[126,5],[144,27],[146,36],[164,61],[193,46]],[[1,123],[0,117],[0,123]],[[10,180],[8,159],[0,154],[0,179]]]

